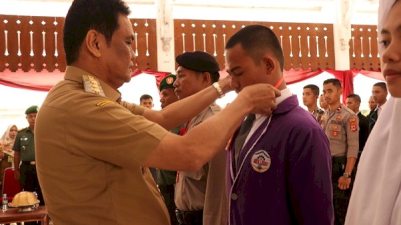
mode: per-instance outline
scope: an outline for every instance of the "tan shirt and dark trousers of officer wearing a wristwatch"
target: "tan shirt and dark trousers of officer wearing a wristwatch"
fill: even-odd
[[[320,124],[330,141],[334,224],[344,224],[355,173],[352,173],[350,188],[346,190],[338,187],[338,179],[345,172],[346,158],[358,156],[358,116],[341,104],[334,111],[326,110],[320,118]]]

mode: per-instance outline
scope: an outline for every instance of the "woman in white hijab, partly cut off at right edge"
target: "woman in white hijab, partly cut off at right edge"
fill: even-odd
[[[363,149],[347,225],[401,224],[401,0],[380,0],[377,28],[391,97]]]

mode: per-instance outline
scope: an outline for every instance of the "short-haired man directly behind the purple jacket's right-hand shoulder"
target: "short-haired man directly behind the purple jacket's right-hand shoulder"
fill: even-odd
[[[319,98],[319,87],[315,84],[308,84],[304,86],[302,91],[302,102],[308,111],[312,113],[316,121],[320,121],[320,117],[323,115],[324,111],[317,106],[317,99]]]

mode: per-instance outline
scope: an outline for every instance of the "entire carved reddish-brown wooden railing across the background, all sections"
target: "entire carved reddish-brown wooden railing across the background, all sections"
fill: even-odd
[[[132,47],[140,69],[157,70],[156,20],[131,19]],[[227,40],[241,27],[259,23],[270,27],[283,47],[286,70],[334,69],[333,25],[317,23],[174,20],[175,55],[205,50],[216,56],[221,69]],[[64,17],[0,15],[0,72],[64,71]],[[351,67],[380,68],[376,26],[352,25]]]

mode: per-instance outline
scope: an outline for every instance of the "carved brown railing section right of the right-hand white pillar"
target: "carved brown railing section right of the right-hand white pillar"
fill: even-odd
[[[377,26],[351,25],[349,63],[351,68],[365,70],[380,69]]]

